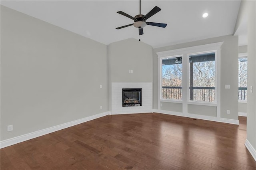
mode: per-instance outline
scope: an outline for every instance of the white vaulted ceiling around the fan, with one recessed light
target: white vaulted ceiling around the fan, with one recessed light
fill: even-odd
[[[115,29],[133,23],[116,12],[139,14],[139,0],[30,0],[1,1],[1,4],[106,45],[127,38],[139,39],[134,26]],[[162,10],[147,21],[168,25],[146,26],[140,39],[152,47],[162,47],[233,34],[240,0],[142,0],[141,13],[146,15],[154,6]],[[202,18],[204,12],[208,12],[207,18]]]

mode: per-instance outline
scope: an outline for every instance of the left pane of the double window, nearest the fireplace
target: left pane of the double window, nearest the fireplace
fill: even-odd
[[[182,100],[182,56],[162,58],[161,99]]]

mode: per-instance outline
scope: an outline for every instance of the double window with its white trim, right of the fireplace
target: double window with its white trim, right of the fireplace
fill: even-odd
[[[223,42],[156,52],[158,108],[161,102],[217,107],[220,117],[220,47]]]

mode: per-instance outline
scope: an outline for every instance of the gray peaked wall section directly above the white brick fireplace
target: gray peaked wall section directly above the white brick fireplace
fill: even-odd
[[[152,82],[152,47],[129,38],[108,45],[112,82]],[[133,70],[133,73],[129,73]]]

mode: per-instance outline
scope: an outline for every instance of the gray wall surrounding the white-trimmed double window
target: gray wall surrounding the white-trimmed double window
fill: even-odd
[[[238,120],[238,36],[232,35],[155,48],[153,56],[153,109],[158,109],[158,55],[156,52],[193,47],[196,45],[204,45],[216,42],[224,42],[221,46],[220,117]],[[225,89],[225,85],[227,84],[231,86],[230,89]],[[208,115],[206,114],[207,112],[213,113],[216,111],[216,108],[214,107],[200,108],[204,109],[202,110],[201,115]],[[198,109],[200,108],[198,107]],[[230,110],[229,115],[226,114],[226,110]],[[190,112],[191,111],[188,111],[188,113]],[[211,115],[213,116],[214,114]]]

